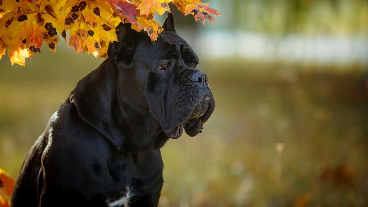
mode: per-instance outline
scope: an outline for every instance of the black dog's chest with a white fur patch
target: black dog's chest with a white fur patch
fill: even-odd
[[[124,156],[109,166],[112,184],[105,194],[108,207],[133,207],[162,187],[162,159],[159,152]],[[155,196],[153,196],[155,197]]]

